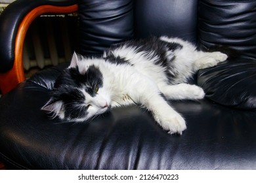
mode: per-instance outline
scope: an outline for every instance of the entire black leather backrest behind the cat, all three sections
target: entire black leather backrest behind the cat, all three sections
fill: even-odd
[[[102,54],[110,44],[152,35],[181,37],[209,48],[231,46],[256,59],[256,1],[79,0],[79,46]]]

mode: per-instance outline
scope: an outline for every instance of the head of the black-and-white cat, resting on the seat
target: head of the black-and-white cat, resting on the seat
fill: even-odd
[[[84,122],[106,112],[110,108],[110,95],[100,69],[92,60],[74,53],[70,67],[57,78],[51,99],[41,109],[68,122]]]

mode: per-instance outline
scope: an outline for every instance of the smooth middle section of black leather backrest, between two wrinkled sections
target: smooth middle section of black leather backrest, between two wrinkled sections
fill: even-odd
[[[137,37],[167,35],[196,43],[198,0],[136,0]]]

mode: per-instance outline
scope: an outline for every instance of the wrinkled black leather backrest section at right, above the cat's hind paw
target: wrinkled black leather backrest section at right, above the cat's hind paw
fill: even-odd
[[[256,1],[200,0],[198,33],[202,48],[221,44],[256,59]]]

